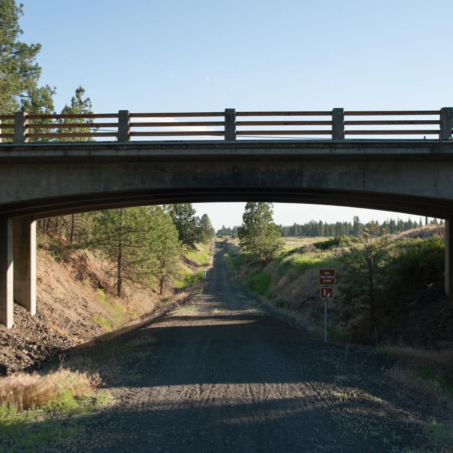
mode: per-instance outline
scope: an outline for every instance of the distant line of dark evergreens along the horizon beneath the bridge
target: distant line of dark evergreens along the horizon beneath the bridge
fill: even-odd
[[[403,231],[412,230],[413,228],[418,228],[418,226],[423,226],[425,224],[424,219],[420,217],[420,220],[402,220],[398,219],[387,219],[384,222],[380,223],[377,220],[374,223],[379,224],[381,228],[384,228],[387,233],[401,233]],[[352,222],[335,222],[327,223],[322,220],[310,220],[307,223],[293,223],[292,225],[277,225],[280,231],[281,236],[355,236],[359,237],[363,233],[363,229],[368,226],[368,223],[361,223],[358,216],[354,216]],[[443,220],[437,220],[436,218],[431,219],[428,222],[429,225],[442,225]],[[217,231],[217,236],[231,236],[236,234],[238,231],[237,227],[233,228],[225,227],[222,225],[222,228]]]

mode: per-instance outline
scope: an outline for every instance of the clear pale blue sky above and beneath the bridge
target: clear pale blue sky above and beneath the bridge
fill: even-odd
[[[57,111],[79,85],[97,112],[453,104],[451,0],[22,3],[21,39],[42,44],[41,84],[57,88]],[[241,223],[243,206],[196,208],[218,228]],[[274,211],[284,224],[398,216],[314,205]]]

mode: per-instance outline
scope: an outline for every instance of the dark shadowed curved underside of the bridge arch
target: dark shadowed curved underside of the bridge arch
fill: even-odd
[[[119,207],[241,201],[348,206],[437,218],[448,218],[450,213],[453,212],[453,201],[448,199],[357,190],[280,187],[187,187],[182,189],[109,191],[18,201],[4,204],[0,209],[4,214],[11,217],[27,216],[30,219],[37,220],[57,215]]]

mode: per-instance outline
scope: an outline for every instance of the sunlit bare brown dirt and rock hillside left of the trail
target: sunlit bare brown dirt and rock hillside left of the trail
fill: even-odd
[[[49,235],[39,235],[37,314],[14,305],[14,326],[0,326],[0,375],[40,367],[58,351],[88,342],[137,322],[165,307],[175,295],[201,280],[210,265],[209,246],[197,244],[180,262],[176,288],[160,295],[153,288],[128,287],[119,298],[104,282],[102,261],[90,251],[74,251]]]

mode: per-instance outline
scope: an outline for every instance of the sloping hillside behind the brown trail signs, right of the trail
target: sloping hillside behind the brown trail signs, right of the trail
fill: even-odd
[[[443,237],[443,227],[418,228],[390,238],[391,248],[407,247],[407,251],[403,251],[406,255],[401,252],[400,261],[394,258],[388,264],[392,266],[393,274],[385,275],[386,285],[395,288],[395,293],[384,293],[377,308],[380,342],[402,342],[422,347],[451,346],[453,306],[443,291],[443,257],[440,256],[443,250],[436,244],[431,247],[433,250],[429,248],[430,238],[436,237]],[[442,240],[439,241],[441,244]],[[348,246],[330,246],[327,238],[285,238],[285,242],[285,251],[262,266],[241,253],[237,239],[226,240],[225,259],[233,279],[236,279],[239,269],[243,269],[246,272],[243,284],[251,292],[308,330],[321,333],[324,302],[319,298],[318,268],[334,267],[338,284],[335,298],[329,304],[330,337],[373,344],[375,334],[367,312],[360,304],[351,306],[345,293],[342,281],[345,264],[341,257],[348,253]],[[426,246],[426,250],[418,250],[419,246]],[[419,256],[415,255],[414,249]],[[437,255],[423,267],[420,260],[431,259],[431,252]],[[429,266],[433,268],[430,270]],[[411,269],[414,272],[410,272]],[[407,294],[404,291],[400,294],[401,281],[409,272],[415,275],[408,280],[412,289]]]

